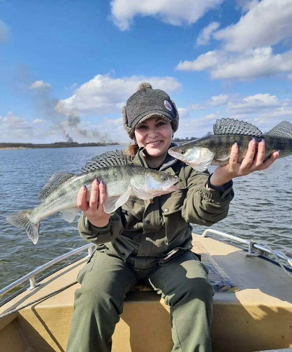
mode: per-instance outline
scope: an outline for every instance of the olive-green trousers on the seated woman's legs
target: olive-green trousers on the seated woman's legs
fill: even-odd
[[[191,251],[133,263],[95,252],[80,271],[67,352],[110,352],[126,293],[147,279],[170,306],[172,352],[210,352],[214,289],[207,269]],[[139,321],[137,321],[139,324]]]

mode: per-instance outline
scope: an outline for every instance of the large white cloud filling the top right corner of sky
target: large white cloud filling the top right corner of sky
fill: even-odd
[[[291,0],[262,0],[253,2],[253,6],[239,22],[213,36],[226,42],[225,49],[229,51],[271,46],[292,36],[291,21]]]

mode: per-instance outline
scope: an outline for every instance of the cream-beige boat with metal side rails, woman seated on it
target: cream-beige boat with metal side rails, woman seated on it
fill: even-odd
[[[232,244],[226,243],[226,238]],[[292,259],[253,240],[211,228],[202,235],[193,233],[192,244],[192,250],[201,254],[209,269],[216,291],[212,351],[291,352]],[[1,296],[30,281],[28,289],[0,303],[1,351],[66,350],[74,291],[80,286],[76,277],[93,249],[93,244],[87,244],[63,254],[0,290]],[[87,256],[36,279],[49,266],[86,250]],[[171,348],[169,307],[150,287],[138,285],[126,296],[112,351],[169,352]]]

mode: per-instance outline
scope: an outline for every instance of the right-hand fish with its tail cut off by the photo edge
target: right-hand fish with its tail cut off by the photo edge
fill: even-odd
[[[268,159],[275,151],[280,150],[276,161],[267,169],[266,174],[273,174],[283,168],[285,158],[292,155],[292,124],[282,121],[271,131],[263,134],[259,128],[248,122],[234,119],[220,119],[214,124],[214,135],[198,138],[191,142],[171,147],[169,154],[193,169],[203,172],[209,165],[226,165],[229,162],[231,147],[238,144],[238,162],[241,163],[246,155],[248,143],[255,138],[256,148],[265,139],[265,157]]]

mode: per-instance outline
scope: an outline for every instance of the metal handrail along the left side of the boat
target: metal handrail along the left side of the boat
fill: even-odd
[[[50,266],[52,266],[53,264],[56,264],[58,262],[61,262],[61,260],[66,259],[71,257],[73,254],[79,253],[84,251],[85,249],[88,250],[88,257],[91,256],[92,253],[92,247],[94,245],[93,244],[86,244],[82,247],[76,248],[68,253],[62,254],[61,256],[51,260],[50,262],[47,262],[44,265],[39,266],[38,268],[34,269],[33,271],[29,272],[28,274],[26,274],[25,276],[19,278],[18,280],[12,282],[11,284],[9,284],[8,286],[2,288],[0,290],[0,297],[2,295],[4,295],[5,293],[11,291],[14,287],[17,287],[18,285],[20,285],[21,283],[25,282],[26,280],[30,281],[30,287],[28,288],[28,290],[32,290],[34,288],[36,288],[39,284],[36,284],[35,278],[34,276],[39,274],[41,271],[49,268]]]

